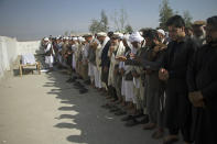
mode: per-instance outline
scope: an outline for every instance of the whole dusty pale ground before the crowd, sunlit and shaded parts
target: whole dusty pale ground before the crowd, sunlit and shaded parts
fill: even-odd
[[[0,144],[160,144],[141,125],[126,128],[100,108],[105,97],[79,95],[67,75],[12,77],[0,82]]]

